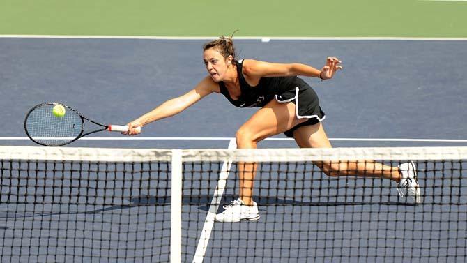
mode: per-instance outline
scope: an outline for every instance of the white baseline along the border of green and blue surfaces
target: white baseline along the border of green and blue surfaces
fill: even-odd
[[[65,35],[0,35],[0,38],[71,38],[71,39],[147,39],[147,40],[213,40],[218,36],[65,36]],[[321,36],[236,36],[238,40],[407,40],[407,41],[467,41],[467,38],[424,38],[424,37],[321,37]]]

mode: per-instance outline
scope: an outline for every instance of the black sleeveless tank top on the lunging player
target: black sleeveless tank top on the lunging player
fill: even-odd
[[[257,86],[251,87],[243,76],[242,68],[243,59],[237,61],[238,81],[240,82],[241,91],[238,100],[231,98],[224,82],[219,82],[220,93],[237,107],[263,107],[270,102],[275,95],[295,90],[296,87],[307,87],[305,82],[296,76],[261,77]]]

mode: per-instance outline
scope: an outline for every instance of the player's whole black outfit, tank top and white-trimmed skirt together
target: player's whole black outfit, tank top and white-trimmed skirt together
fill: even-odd
[[[312,87],[299,77],[261,77],[255,87],[251,87],[242,73],[243,59],[237,61],[238,80],[240,82],[240,98],[234,100],[229,95],[224,82],[219,82],[220,93],[236,107],[263,107],[270,100],[279,103],[295,103],[298,119],[307,118],[308,121],[298,124],[284,134],[293,137],[293,131],[301,126],[314,125],[325,118],[319,106],[319,99]]]

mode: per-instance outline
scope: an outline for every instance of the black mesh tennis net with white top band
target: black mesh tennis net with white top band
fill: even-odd
[[[2,262],[465,262],[466,157],[467,147],[0,146],[0,256]],[[400,197],[389,179],[319,169],[371,160],[395,170],[413,160],[420,204]],[[238,198],[247,167],[256,173],[259,220],[215,222],[215,213]]]

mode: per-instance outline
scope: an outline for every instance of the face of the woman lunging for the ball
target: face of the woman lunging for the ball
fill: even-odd
[[[224,80],[225,74],[227,73],[227,68],[229,68],[231,65],[230,57],[224,59],[222,54],[220,54],[217,49],[212,47],[204,51],[203,60],[204,65],[206,65],[206,70],[208,70],[210,77],[215,82]]]

